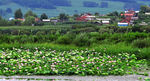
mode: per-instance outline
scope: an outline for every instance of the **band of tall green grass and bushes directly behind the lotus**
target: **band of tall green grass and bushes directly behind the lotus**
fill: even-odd
[[[0,48],[30,48],[72,50],[96,50],[115,55],[118,53],[135,54],[139,59],[150,59],[149,33],[83,33],[65,34],[59,32],[49,35],[0,35]],[[144,40],[141,40],[144,39]],[[137,41],[138,40],[138,41]],[[146,42],[145,42],[146,41]],[[137,45],[137,46],[136,46]],[[140,47],[144,45],[144,47]]]

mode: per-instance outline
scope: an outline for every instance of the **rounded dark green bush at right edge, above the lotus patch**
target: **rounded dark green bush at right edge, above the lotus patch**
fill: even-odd
[[[133,46],[138,48],[150,47],[150,38],[137,39],[133,42]]]

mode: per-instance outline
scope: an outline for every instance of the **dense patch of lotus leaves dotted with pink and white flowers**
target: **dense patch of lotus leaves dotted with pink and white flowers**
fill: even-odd
[[[1,49],[0,75],[124,75],[145,65],[135,54],[94,50]]]

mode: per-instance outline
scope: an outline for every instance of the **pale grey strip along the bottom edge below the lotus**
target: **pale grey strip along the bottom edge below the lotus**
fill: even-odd
[[[138,78],[141,77],[142,80]],[[144,81],[150,76],[0,76],[0,81]]]

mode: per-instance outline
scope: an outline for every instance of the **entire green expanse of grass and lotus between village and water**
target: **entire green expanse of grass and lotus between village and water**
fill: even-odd
[[[150,34],[129,32],[133,29],[62,23],[0,27],[0,75],[106,76],[148,71]]]

